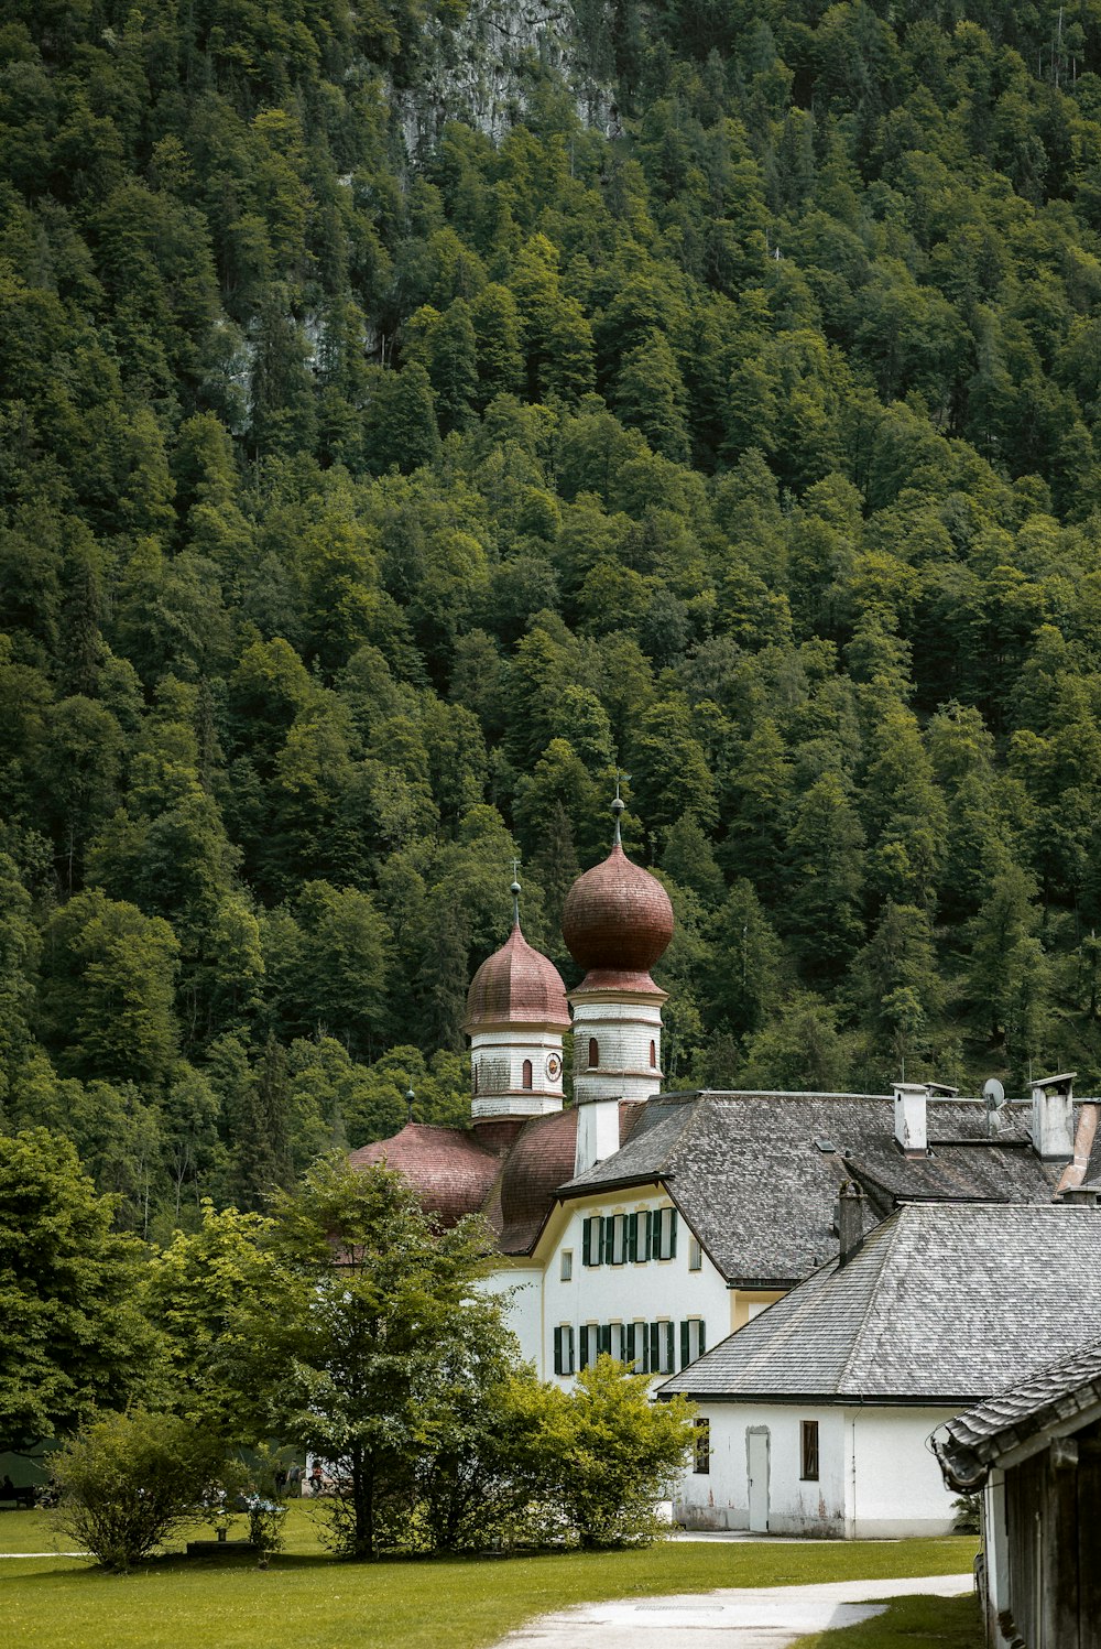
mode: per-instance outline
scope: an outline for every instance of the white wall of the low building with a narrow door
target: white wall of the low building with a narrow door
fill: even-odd
[[[954,1410],[814,1403],[700,1403],[710,1471],[689,1469],[672,1515],[692,1529],[748,1529],[748,1433],[768,1435],[768,1532],[822,1539],[941,1535],[953,1496],[930,1433]],[[804,1481],[803,1421],[818,1421],[819,1474]]]

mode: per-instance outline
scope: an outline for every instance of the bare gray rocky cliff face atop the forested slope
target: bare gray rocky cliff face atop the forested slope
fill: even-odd
[[[607,33],[611,7],[600,0],[588,36]],[[470,0],[458,26],[433,21],[424,43],[420,84],[392,94],[410,158],[430,148],[447,120],[468,120],[494,142],[522,117],[542,71],[560,74],[585,125],[613,125],[613,96],[593,73],[574,0]]]

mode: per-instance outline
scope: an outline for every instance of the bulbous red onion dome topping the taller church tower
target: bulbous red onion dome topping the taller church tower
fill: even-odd
[[[649,973],[672,938],[669,895],[618,841],[565,895],[562,938],[588,973]]]

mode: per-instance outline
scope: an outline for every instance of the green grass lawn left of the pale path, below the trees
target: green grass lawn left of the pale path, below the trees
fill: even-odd
[[[264,1573],[251,1560],[224,1567],[171,1555],[124,1578],[61,1557],[0,1560],[5,1649],[270,1649],[274,1641],[297,1649],[351,1642],[356,1649],[438,1649],[443,1642],[485,1649],[532,1614],[572,1603],[895,1575],[902,1593],[908,1575],[963,1573],[976,1550],[971,1537],[691,1542],[646,1552],[353,1565],[320,1550],[308,1504],[292,1502],[287,1524],[287,1555]],[[244,1532],[242,1520],[231,1539]],[[0,1514],[0,1550],[46,1552],[56,1539],[43,1512]],[[832,1649],[836,1639],[829,1642]],[[967,1639],[930,1637],[938,1649],[944,1642],[963,1649]],[[920,1644],[907,1639],[907,1649]]]

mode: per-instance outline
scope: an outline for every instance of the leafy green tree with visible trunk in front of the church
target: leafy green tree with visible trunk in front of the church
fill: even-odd
[[[372,1557],[448,1388],[481,1341],[503,1341],[499,1306],[475,1288],[485,1232],[437,1232],[399,1174],[331,1161],[272,1219],[282,1298],[244,1327],[259,1418],[333,1463],[340,1550]]]

